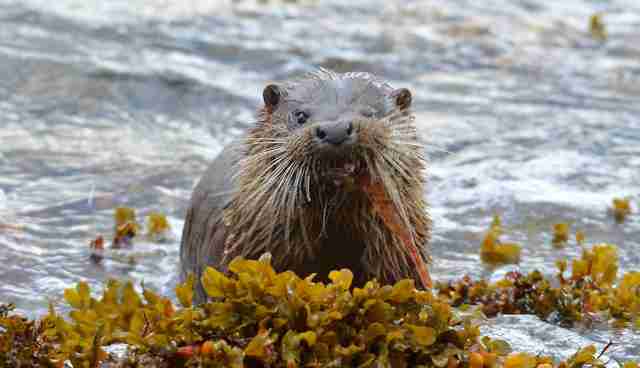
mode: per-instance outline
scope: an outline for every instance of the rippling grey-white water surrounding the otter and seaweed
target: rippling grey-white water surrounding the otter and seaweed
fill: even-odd
[[[37,316],[75,282],[99,289],[110,277],[168,292],[207,162],[254,120],[264,85],[316,66],[414,91],[430,142],[435,278],[510,269],[479,262],[494,213],[523,244],[524,271],[579,255],[551,247],[560,221],[617,244],[623,271],[638,268],[640,216],[616,225],[607,207],[631,196],[638,208],[640,4],[344,4],[0,0],[0,223],[19,226],[0,230],[0,301]],[[587,32],[596,12],[604,43]],[[91,264],[88,243],[111,234],[119,205],[166,213],[176,239]],[[614,338],[612,356],[640,356],[634,331],[526,316],[484,328],[532,352]]]

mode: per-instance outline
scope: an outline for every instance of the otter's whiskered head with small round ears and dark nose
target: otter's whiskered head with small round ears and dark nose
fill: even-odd
[[[363,173],[379,177],[381,170],[393,170],[379,167],[385,161],[410,169],[403,167],[401,156],[416,159],[415,150],[406,146],[417,143],[411,92],[371,74],[321,70],[268,85],[263,98],[266,130],[258,140],[269,137],[261,143],[307,167],[313,185],[341,186]]]

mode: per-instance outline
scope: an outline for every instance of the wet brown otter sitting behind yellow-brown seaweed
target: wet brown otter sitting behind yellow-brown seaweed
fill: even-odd
[[[255,125],[192,194],[180,262],[183,279],[197,277],[196,302],[206,300],[206,266],[225,271],[265,252],[277,271],[301,277],[348,268],[356,286],[411,278],[430,287],[419,267],[430,259],[431,219],[411,92],[320,69],[267,85],[263,100]]]

